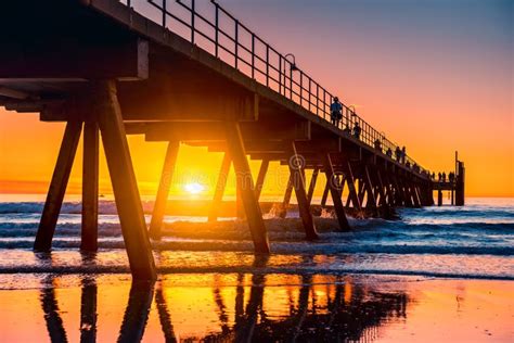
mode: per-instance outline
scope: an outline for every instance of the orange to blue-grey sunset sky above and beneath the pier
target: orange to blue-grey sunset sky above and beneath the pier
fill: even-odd
[[[279,50],[294,52],[299,67],[407,145],[423,166],[448,173],[459,150],[466,166],[466,195],[514,196],[511,2],[265,3],[266,11],[254,1],[224,5]],[[63,128],[38,122],[37,114],[0,109],[0,192],[46,192]],[[165,144],[131,137],[130,147],[140,189],[152,194]],[[221,154],[182,147],[180,185],[172,193],[181,193],[191,181],[205,183],[209,192],[220,163]],[[275,170],[273,164],[272,175]],[[80,191],[80,172],[77,158],[70,192]],[[282,180],[285,169],[280,175]],[[265,194],[283,192],[282,181],[269,180],[273,185],[265,187]],[[101,189],[108,192],[103,156]]]

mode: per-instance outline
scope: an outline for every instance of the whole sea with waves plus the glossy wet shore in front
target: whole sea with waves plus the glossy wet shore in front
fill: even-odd
[[[152,202],[144,202],[146,213]],[[400,220],[266,215],[272,254],[242,221],[167,216],[156,282],[131,280],[115,204],[81,254],[79,199],[51,253],[31,250],[41,196],[0,202],[0,342],[512,342],[514,200],[400,209]],[[149,220],[150,217],[146,216]]]

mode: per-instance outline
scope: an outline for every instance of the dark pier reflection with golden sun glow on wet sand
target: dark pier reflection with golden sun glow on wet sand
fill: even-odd
[[[80,277],[79,315],[63,310],[57,294],[59,280],[75,277],[46,277],[40,303],[50,340],[73,341],[76,332],[65,328],[75,330],[66,325],[75,314],[81,342],[108,340],[107,328],[110,334],[119,330],[118,342],[373,341],[382,323],[404,319],[408,305],[403,292],[381,292],[342,276],[190,274],[163,276],[156,283],[105,280],[116,277]],[[116,290],[101,295],[103,287]],[[119,306],[124,298],[125,308]],[[117,328],[116,318],[121,319]]]

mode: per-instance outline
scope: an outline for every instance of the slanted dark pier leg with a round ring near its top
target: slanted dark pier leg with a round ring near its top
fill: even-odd
[[[316,231],[314,220],[312,213],[310,212],[310,203],[307,199],[307,192],[305,190],[305,161],[298,156],[295,143],[292,143],[293,155],[290,158],[290,172],[293,176],[293,187],[295,189],[296,200],[298,202],[298,212],[304,225],[305,236],[308,240],[316,240],[319,238]]]

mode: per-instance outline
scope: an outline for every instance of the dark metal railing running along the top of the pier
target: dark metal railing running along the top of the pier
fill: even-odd
[[[322,87],[309,74],[298,68],[294,55],[282,54],[215,0],[121,0],[137,12],[155,21],[163,27],[188,39],[191,43],[214,54],[258,82],[294,101],[312,114],[331,120],[330,105],[334,94]],[[152,10],[144,8],[150,4]],[[157,11],[157,13],[155,13]],[[400,160],[408,166],[421,167],[408,155],[397,158],[398,145],[360,117],[354,106],[343,105],[339,129],[348,135],[358,123],[359,139],[383,153],[391,152],[393,160]],[[376,147],[380,142],[380,148]],[[401,147],[400,147],[401,148]]]

